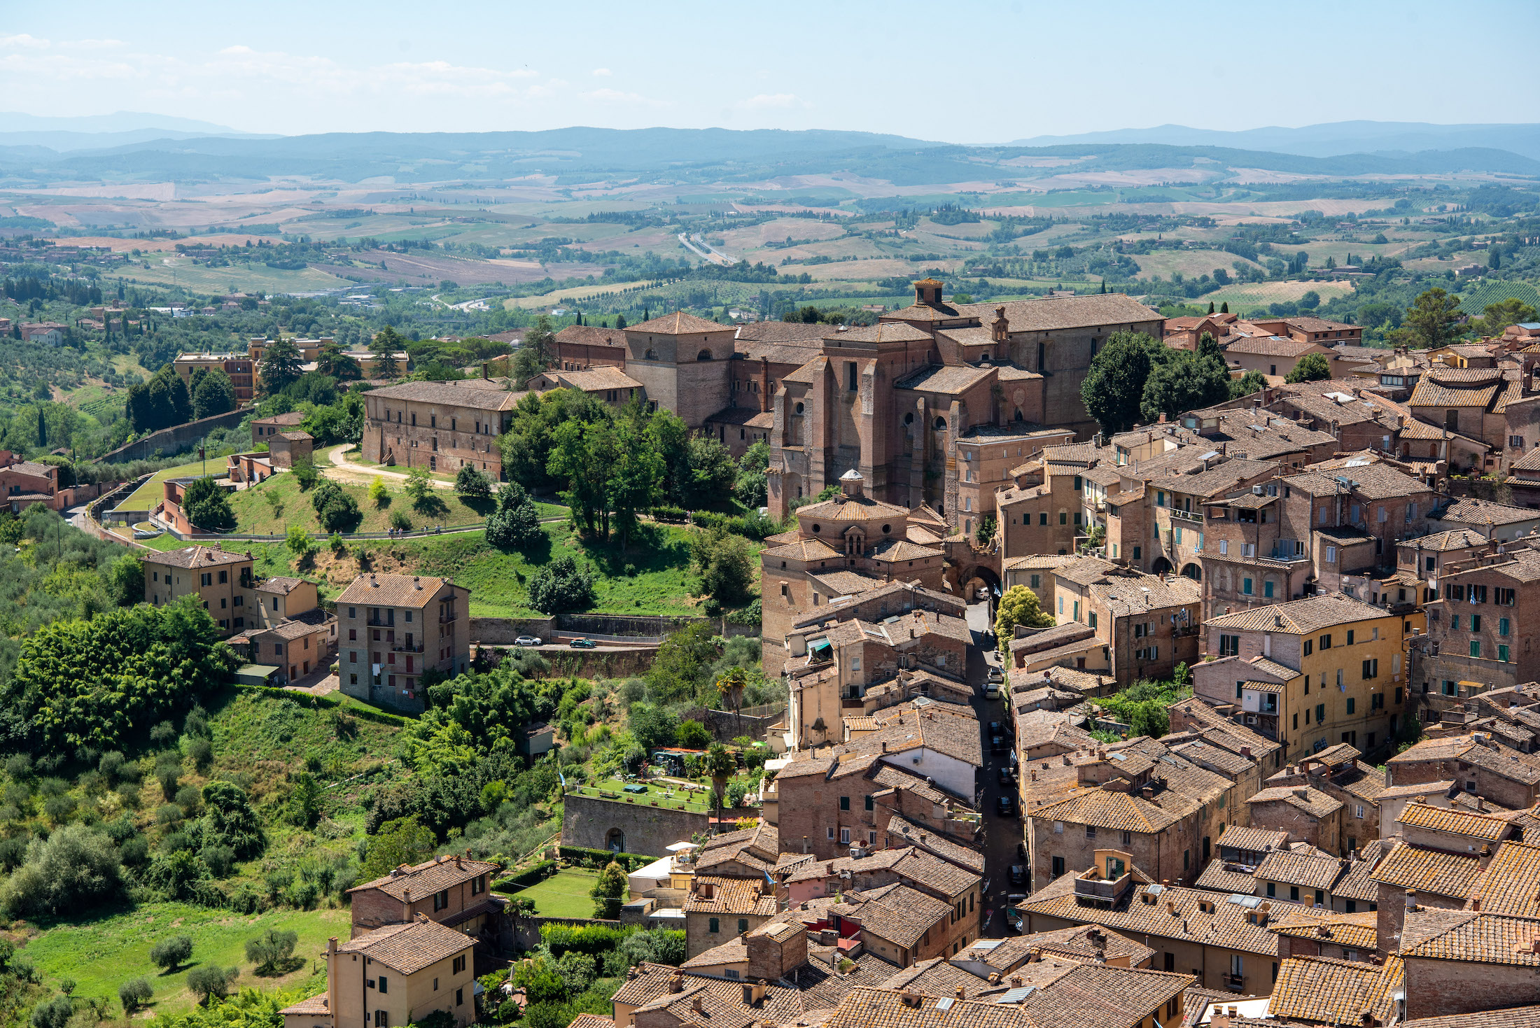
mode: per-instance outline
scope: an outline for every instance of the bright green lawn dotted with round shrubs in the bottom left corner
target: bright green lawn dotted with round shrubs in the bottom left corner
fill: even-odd
[[[593,910],[590,900],[588,911]],[[584,916],[590,916],[587,911]],[[192,1006],[186,973],[199,963],[240,968],[240,986],[325,990],[325,970],[314,976],[317,954],[328,936],[348,936],[346,910],[279,910],[242,916],[189,903],[145,903],[132,911],[114,913],[71,925],[48,926],[26,943],[26,954],[37,965],[45,985],[74,979],[75,996],[105,996],[117,1002],[117,986],[145,976],[156,990],[157,1013]],[[257,977],[246,960],[246,940],[268,928],[299,933],[293,968],[280,977]],[[162,974],[149,962],[149,950],[166,936],[191,936],[191,963],[172,974]],[[313,980],[313,976],[316,980]]]

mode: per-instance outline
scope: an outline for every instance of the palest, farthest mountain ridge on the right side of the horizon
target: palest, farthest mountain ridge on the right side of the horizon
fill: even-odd
[[[1012,146],[1078,143],[1161,143],[1166,146],[1229,146],[1303,157],[1337,157],[1380,151],[1506,149],[1540,160],[1540,125],[1431,125],[1426,122],[1329,122],[1303,128],[1257,128],[1241,132],[1160,125],[1078,135],[1033,135]]]

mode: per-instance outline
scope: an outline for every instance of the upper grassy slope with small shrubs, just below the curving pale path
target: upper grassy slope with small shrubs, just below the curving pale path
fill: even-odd
[[[387,483],[390,486],[391,483]],[[383,532],[390,528],[394,511],[402,511],[411,519],[414,528],[431,525],[479,525],[487,520],[494,500],[464,500],[447,489],[434,489],[427,506],[417,508],[403,491],[391,489],[387,500],[376,505],[370,499],[367,485],[339,483],[359,505],[363,516],[356,532]],[[306,532],[325,531],[316,519],[316,506],[310,502],[310,492],[299,488],[299,479],[293,474],[276,474],[262,485],[242,489],[229,497],[229,508],[236,512],[236,532],[251,536],[282,536],[290,525],[299,525]]]

